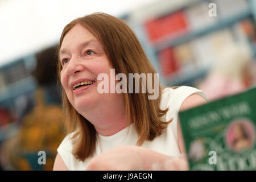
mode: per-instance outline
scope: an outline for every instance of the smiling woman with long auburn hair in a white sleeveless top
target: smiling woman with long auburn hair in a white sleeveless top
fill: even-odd
[[[148,91],[97,91],[97,77],[104,73],[111,78],[113,69],[114,76],[144,73],[158,83],[141,44],[122,20],[104,13],[73,20],[60,38],[58,66],[68,133],[53,169],[149,170],[155,163],[187,169],[184,158],[172,158],[184,152],[177,113],[205,103],[200,90],[156,84],[155,100],[148,100]]]

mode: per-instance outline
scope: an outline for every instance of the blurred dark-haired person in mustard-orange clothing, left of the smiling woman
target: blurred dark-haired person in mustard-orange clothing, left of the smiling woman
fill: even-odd
[[[1,163],[10,170],[52,170],[56,149],[64,138],[60,92],[56,85],[56,47],[36,55],[35,107],[21,121],[18,135],[2,144]],[[39,164],[39,151],[46,164]]]

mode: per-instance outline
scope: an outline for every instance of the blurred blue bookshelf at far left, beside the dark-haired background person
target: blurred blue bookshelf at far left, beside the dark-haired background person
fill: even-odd
[[[37,86],[32,76],[35,64],[34,55],[27,55],[0,67],[0,143],[18,134],[22,116],[16,107],[26,110],[32,100]]]

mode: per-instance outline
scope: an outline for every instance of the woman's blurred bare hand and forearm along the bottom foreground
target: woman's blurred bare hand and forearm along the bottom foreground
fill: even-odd
[[[143,147],[121,146],[93,158],[86,170],[188,170],[188,163],[184,156],[173,158]]]

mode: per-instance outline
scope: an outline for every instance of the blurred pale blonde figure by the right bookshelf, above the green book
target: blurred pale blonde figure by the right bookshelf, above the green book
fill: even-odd
[[[227,45],[217,56],[207,77],[199,84],[209,100],[243,92],[250,86],[250,49],[242,44]]]

